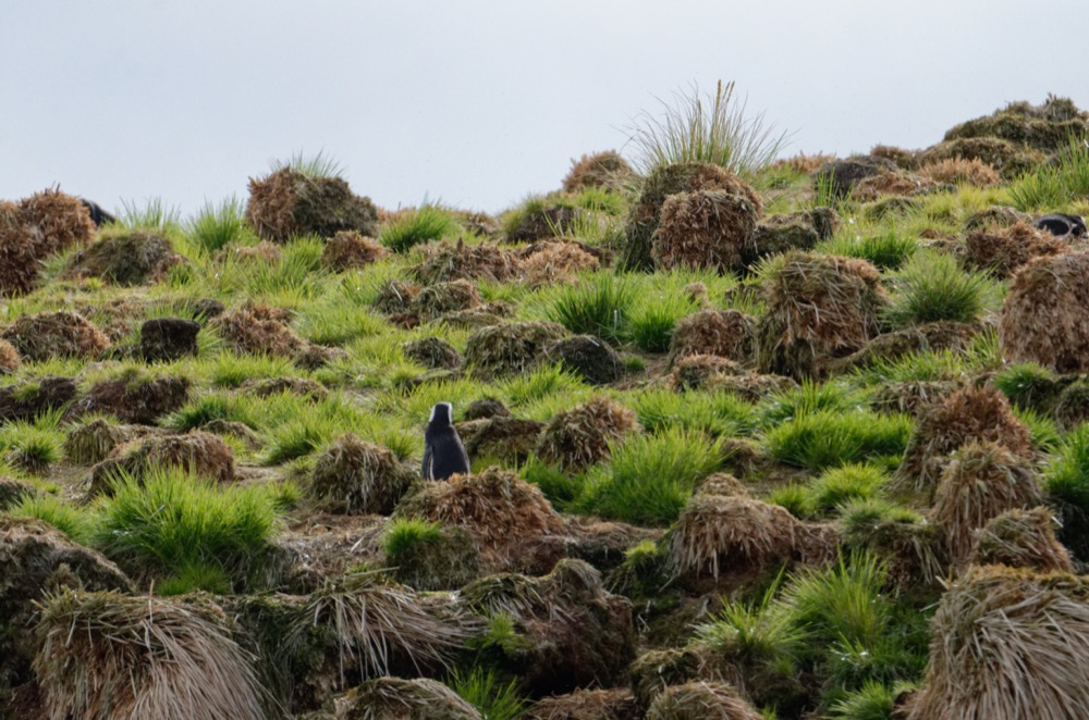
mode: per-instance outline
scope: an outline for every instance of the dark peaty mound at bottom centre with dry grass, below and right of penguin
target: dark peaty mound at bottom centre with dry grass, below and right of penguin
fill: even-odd
[[[543,578],[481,578],[462,588],[460,603],[513,624],[517,641],[491,653],[536,697],[611,686],[635,657],[631,600],[605,592],[583,560],[561,560]]]

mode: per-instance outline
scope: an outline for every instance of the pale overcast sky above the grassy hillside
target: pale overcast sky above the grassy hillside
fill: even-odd
[[[497,212],[733,79],[788,154],[920,148],[1048,92],[1089,108],[1089,2],[8,0],[0,198],[183,214],[323,151],[387,208]]]

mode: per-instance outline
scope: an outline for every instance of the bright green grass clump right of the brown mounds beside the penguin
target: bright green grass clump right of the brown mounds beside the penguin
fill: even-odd
[[[639,525],[668,525],[696,483],[718,470],[722,455],[703,433],[669,429],[635,435],[612,448],[612,459],[591,474],[578,508]]]

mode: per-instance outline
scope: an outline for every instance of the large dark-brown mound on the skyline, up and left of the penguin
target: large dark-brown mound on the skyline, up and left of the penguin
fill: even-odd
[[[292,235],[333,237],[354,231],[378,237],[378,211],[370,198],[352,193],[340,177],[311,177],[282,167],[249,178],[246,223],[264,239],[286,243]]]

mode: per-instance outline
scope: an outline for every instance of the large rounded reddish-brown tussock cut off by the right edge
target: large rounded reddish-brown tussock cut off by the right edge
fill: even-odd
[[[1089,252],[1039,258],[1021,268],[1002,306],[999,343],[1007,361],[1089,372]]]

